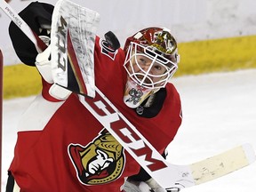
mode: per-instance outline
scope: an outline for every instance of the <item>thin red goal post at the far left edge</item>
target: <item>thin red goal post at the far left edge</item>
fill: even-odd
[[[0,50],[0,192],[2,191],[3,54]]]

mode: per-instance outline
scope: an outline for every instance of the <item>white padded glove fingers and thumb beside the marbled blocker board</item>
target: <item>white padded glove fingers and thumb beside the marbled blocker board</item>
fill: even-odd
[[[68,89],[61,87],[58,84],[54,84],[52,78],[52,66],[50,59],[51,46],[48,46],[44,52],[38,53],[36,56],[36,68],[48,84],[52,84],[49,93],[57,100],[67,100],[71,94]]]

